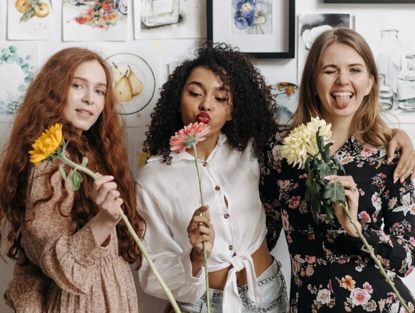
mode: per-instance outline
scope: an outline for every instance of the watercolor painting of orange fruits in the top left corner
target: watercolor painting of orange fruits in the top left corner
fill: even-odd
[[[51,0],[7,0],[7,39],[51,40]]]

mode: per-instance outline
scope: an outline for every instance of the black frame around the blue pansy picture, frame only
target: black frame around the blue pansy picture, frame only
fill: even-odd
[[[228,2],[229,0],[225,0]],[[275,52],[250,52],[242,51],[250,54],[258,59],[293,59],[295,58],[295,0],[282,0],[288,2],[288,51],[275,51]],[[207,40],[215,42],[213,34],[213,3],[223,3],[223,0],[206,0],[206,16],[207,16]],[[231,42],[228,44],[237,46]]]

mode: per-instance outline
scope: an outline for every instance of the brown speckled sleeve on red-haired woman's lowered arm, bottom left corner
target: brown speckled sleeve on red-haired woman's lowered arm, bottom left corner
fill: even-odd
[[[16,313],[46,313],[46,292],[50,279],[27,260],[23,251],[17,256],[13,278],[7,285],[4,301]]]

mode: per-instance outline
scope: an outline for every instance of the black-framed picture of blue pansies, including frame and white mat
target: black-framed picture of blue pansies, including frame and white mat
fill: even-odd
[[[207,0],[207,40],[256,58],[294,58],[294,0]]]

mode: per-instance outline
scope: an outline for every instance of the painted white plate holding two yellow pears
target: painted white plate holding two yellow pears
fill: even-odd
[[[144,109],[155,92],[155,77],[148,63],[131,53],[118,53],[106,58],[111,66],[115,96],[122,105],[120,114],[134,114]]]

